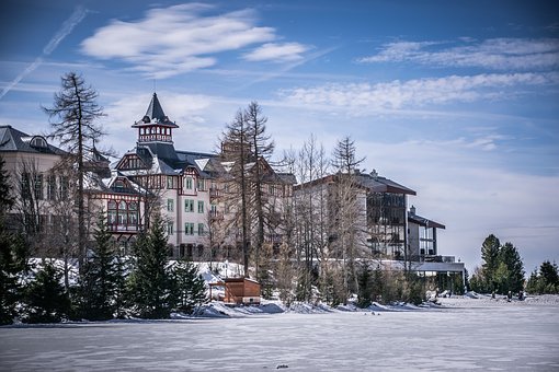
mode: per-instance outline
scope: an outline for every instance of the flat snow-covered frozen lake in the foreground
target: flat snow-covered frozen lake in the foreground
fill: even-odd
[[[559,370],[559,306],[0,328],[2,371]],[[474,304],[472,306],[470,304]]]

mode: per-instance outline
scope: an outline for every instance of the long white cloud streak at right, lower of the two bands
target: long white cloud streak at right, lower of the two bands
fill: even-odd
[[[559,84],[558,72],[449,75],[375,84],[326,84],[284,90],[281,95],[286,102],[303,105],[372,113],[419,108],[432,104],[500,100],[511,95],[510,91],[504,90],[512,86],[535,88],[551,84]]]

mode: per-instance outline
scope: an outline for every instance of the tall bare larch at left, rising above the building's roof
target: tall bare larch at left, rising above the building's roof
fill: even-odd
[[[78,254],[81,263],[85,255],[87,241],[83,183],[87,172],[85,155],[104,135],[101,126],[95,123],[104,114],[96,104],[98,93],[85,85],[81,75],[76,72],[66,73],[61,78],[61,91],[55,94],[53,107],[43,107],[43,111],[50,119],[56,119],[50,121],[53,132],[49,137],[57,138],[60,144],[67,148],[72,155],[72,163],[77,165]]]

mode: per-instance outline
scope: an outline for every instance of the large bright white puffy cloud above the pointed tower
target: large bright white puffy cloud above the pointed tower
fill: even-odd
[[[273,44],[273,27],[258,26],[246,9],[213,15],[201,3],[151,9],[134,22],[112,21],[82,42],[82,51],[100,59],[122,59],[147,77],[164,79],[215,66],[220,53],[259,46],[243,56],[251,61],[294,61],[308,47]]]

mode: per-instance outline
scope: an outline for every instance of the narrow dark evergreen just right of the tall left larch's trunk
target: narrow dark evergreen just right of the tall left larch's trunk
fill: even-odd
[[[119,310],[124,278],[121,257],[106,229],[103,212],[99,213],[94,239],[95,244],[81,272],[81,314],[90,321],[105,321],[113,318]]]

